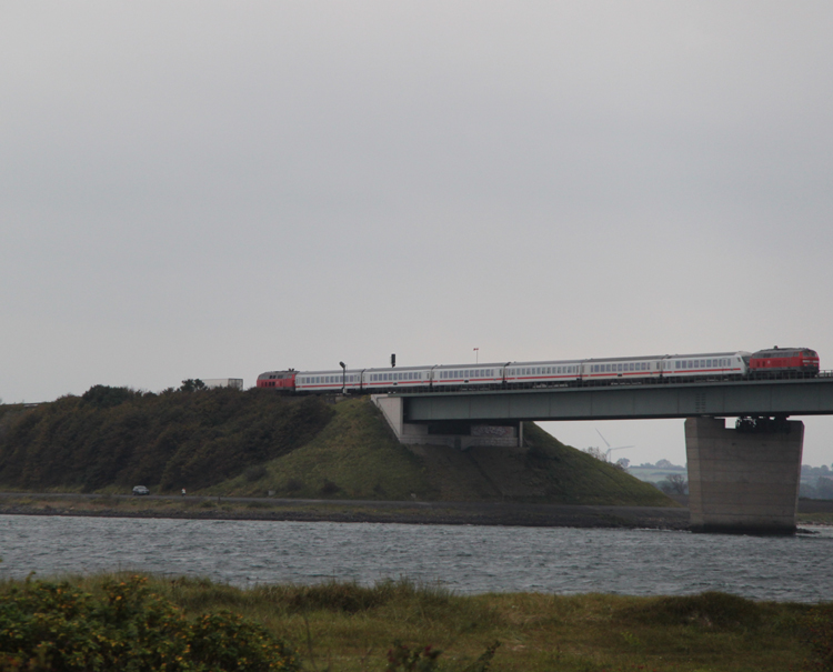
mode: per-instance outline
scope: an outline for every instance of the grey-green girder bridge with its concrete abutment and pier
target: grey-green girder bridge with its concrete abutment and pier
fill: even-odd
[[[833,414],[817,378],[375,395],[403,443],[523,445],[524,421],[685,419],[691,526],[794,532],[804,423]],[[737,429],[726,418],[745,418]]]

